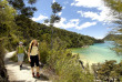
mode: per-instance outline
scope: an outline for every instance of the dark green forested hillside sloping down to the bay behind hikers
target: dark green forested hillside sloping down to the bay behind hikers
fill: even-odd
[[[37,23],[31,19],[26,18],[27,20],[17,20],[18,27],[14,29],[14,32],[10,32],[11,43],[13,41],[23,40],[26,43],[30,41],[30,39],[38,39],[40,41],[48,41],[51,42],[51,28],[41,23]],[[18,23],[19,22],[19,23]],[[30,24],[31,23],[31,24]],[[90,45],[96,42],[94,38],[78,34],[75,32],[70,32],[63,29],[54,28],[53,27],[53,39],[60,38],[68,48],[78,48],[82,45]],[[12,44],[12,45],[16,45]]]

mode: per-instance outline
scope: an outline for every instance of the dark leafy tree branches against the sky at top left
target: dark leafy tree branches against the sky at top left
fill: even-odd
[[[35,7],[26,7],[23,0],[8,0],[9,3],[18,11],[18,14],[31,18],[37,11]],[[28,3],[35,3],[37,0],[28,0]]]

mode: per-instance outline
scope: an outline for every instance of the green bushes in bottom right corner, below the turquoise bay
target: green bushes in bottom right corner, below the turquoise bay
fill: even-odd
[[[92,65],[92,70],[95,76],[95,80],[102,81],[114,81],[121,80],[122,78],[122,62],[116,63],[115,60],[105,61],[104,63],[98,63]]]

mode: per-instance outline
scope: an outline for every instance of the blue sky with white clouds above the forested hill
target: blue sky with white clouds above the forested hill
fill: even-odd
[[[102,0],[37,0],[33,6],[38,11],[31,19],[43,23],[52,14],[51,3],[53,2],[62,6],[62,11],[58,13],[61,21],[54,24],[57,28],[96,39],[104,38],[112,30],[109,27],[114,19]]]

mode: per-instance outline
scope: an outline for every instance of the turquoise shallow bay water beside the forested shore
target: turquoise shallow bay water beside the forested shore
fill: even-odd
[[[93,61],[93,62],[104,62],[105,60],[116,60],[120,62],[122,57],[119,57],[110,48],[114,47],[112,41],[105,41],[104,43],[95,43],[88,48],[75,48],[72,49],[73,53],[79,53],[82,58],[81,60]]]

